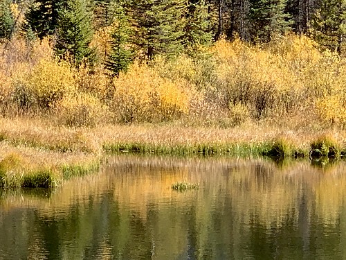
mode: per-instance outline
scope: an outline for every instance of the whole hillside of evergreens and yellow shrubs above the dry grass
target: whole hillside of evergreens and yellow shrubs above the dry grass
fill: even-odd
[[[3,116],[345,126],[345,1],[1,0],[0,13]]]

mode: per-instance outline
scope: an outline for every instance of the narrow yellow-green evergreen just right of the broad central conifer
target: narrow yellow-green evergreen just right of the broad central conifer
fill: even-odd
[[[212,31],[205,0],[190,0],[186,15],[185,44],[187,46],[209,45]]]

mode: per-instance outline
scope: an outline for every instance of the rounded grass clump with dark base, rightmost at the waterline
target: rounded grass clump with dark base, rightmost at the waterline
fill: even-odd
[[[340,146],[334,137],[322,135],[311,143],[310,155],[313,158],[336,158],[340,156]]]

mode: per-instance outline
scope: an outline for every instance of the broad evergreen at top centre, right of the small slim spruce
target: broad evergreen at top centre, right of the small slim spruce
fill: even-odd
[[[175,55],[183,50],[185,1],[134,0],[135,28],[131,41],[150,60],[156,54]]]

